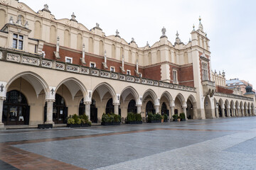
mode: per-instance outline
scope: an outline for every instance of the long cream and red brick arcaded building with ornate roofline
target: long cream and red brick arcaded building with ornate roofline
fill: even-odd
[[[128,112],[188,119],[255,115],[255,94],[216,88],[209,39],[199,26],[184,44],[166,29],[154,45],[138,47],[118,31],[88,29],[75,14],[56,19],[48,5],[38,12],[16,0],[0,0],[0,124],[65,124],[87,114],[100,123],[102,113]]]

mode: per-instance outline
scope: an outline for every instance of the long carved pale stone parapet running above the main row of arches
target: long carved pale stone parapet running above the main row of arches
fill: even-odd
[[[0,59],[5,60],[3,53],[0,52]],[[64,62],[57,62],[55,60],[47,60],[47,59],[41,59],[38,57],[32,57],[32,56],[22,56],[17,55],[8,52],[6,55],[6,61],[10,62],[20,62],[21,64],[29,64],[34,67],[43,67],[48,69],[58,69],[65,72],[73,72],[78,74],[87,74],[92,75],[96,77],[104,77],[107,79],[116,79],[121,81],[129,81],[134,82],[138,84],[147,84],[150,86],[161,86],[163,88],[169,88],[169,89],[179,89],[183,91],[191,91],[196,92],[196,88],[188,87],[188,86],[181,86],[178,84],[170,84],[166,83],[164,81],[156,81],[152,79],[145,79],[140,77],[134,77],[127,74],[120,74],[120,73],[114,73],[114,72],[108,72],[105,70],[95,69],[95,68],[89,68],[89,67],[83,67],[75,64],[69,64]]]

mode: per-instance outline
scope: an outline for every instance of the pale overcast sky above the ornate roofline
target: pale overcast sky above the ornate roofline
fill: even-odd
[[[100,23],[105,35],[119,35],[139,47],[159,41],[161,28],[174,44],[176,30],[182,42],[191,38],[193,24],[203,28],[210,39],[213,71],[224,69],[227,79],[239,78],[256,86],[256,1],[254,0],[20,0],[33,11],[48,4],[56,19],[77,20],[89,30]]]

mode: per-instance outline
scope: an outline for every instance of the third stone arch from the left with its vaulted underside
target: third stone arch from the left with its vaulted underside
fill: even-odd
[[[94,94],[95,91],[97,91],[98,94],[100,95],[100,101],[102,101],[102,98],[105,96],[105,94],[107,94],[107,92],[110,92],[113,98],[113,102],[118,102],[116,92],[114,91],[113,87],[110,86],[110,84],[107,84],[106,82],[95,86],[95,88],[92,91],[92,95]]]

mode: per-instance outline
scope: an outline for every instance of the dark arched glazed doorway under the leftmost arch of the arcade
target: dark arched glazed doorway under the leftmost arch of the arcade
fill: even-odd
[[[4,125],[28,125],[30,106],[20,91],[9,91],[4,101],[2,120]]]

